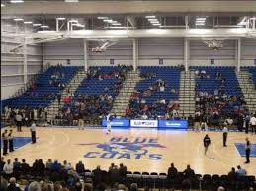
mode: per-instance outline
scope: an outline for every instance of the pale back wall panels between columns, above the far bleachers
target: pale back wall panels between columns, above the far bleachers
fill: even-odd
[[[110,59],[117,64],[132,64],[132,40],[121,40],[103,53],[91,52],[95,42],[88,44],[88,63],[90,66],[110,65]],[[66,63],[71,60],[72,65],[83,65],[83,40],[68,39],[59,42],[45,44],[45,62]],[[242,40],[242,63],[241,66],[253,65],[256,59],[256,40]],[[163,59],[164,65],[183,64],[184,40],[182,38],[143,38],[138,39],[138,63],[140,66],[158,65],[159,58]],[[191,66],[210,65],[210,60],[215,60],[216,66],[235,66],[236,41],[225,40],[224,47],[215,51],[207,46],[202,40],[190,40]]]

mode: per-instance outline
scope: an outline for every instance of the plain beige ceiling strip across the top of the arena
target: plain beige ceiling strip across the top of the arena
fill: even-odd
[[[65,3],[66,0],[23,0],[24,3],[10,3],[14,0],[1,1],[5,5],[2,15],[95,15],[126,14],[198,14],[198,13],[255,13],[256,1],[88,1]],[[69,0],[70,1],[70,0]],[[77,1],[77,0],[76,0]],[[2,6],[1,6],[2,7]]]

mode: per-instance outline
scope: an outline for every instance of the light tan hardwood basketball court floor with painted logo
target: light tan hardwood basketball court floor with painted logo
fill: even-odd
[[[58,159],[61,163],[66,159],[73,166],[82,160],[87,169],[94,169],[97,165],[101,165],[102,169],[108,169],[112,162],[122,162],[128,166],[129,171],[141,172],[166,172],[170,163],[174,162],[180,171],[184,170],[187,164],[191,164],[196,173],[210,174],[227,174],[231,167],[241,165],[248,174],[256,175],[256,158],[251,158],[250,164],[244,164],[245,158],[239,156],[234,146],[234,143],[245,142],[244,133],[230,132],[228,147],[224,148],[222,133],[208,132],[212,139],[208,156],[204,155],[203,148],[205,134],[130,129],[112,130],[111,134],[107,135],[106,130],[99,129],[42,127],[37,128],[37,144],[29,143],[8,154],[5,159],[17,157],[20,160],[27,159],[30,164],[35,159],[43,159],[43,162],[47,159]],[[24,127],[23,132],[15,131],[14,136],[29,137],[30,131]],[[252,143],[256,143],[255,135],[249,134],[247,137]],[[136,138],[139,139],[135,140]]]

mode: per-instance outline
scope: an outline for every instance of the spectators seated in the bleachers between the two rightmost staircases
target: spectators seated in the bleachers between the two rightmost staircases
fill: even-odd
[[[196,77],[200,79],[209,79],[209,74],[205,70],[195,71]],[[226,89],[226,79],[220,72],[215,74],[215,82],[219,85],[213,93],[208,91],[197,91],[200,85],[196,84],[196,113],[195,120],[200,120],[211,127],[223,127],[223,125],[236,125],[242,130],[243,121],[250,115],[246,107],[244,96],[228,95]],[[190,124],[193,124],[193,117],[189,117]],[[227,121],[233,120],[231,124]]]

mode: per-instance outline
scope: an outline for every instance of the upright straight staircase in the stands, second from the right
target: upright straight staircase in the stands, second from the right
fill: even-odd
[[[180,115],[188,117],[195,113],[195,72],[182,71],[179,91]]]

